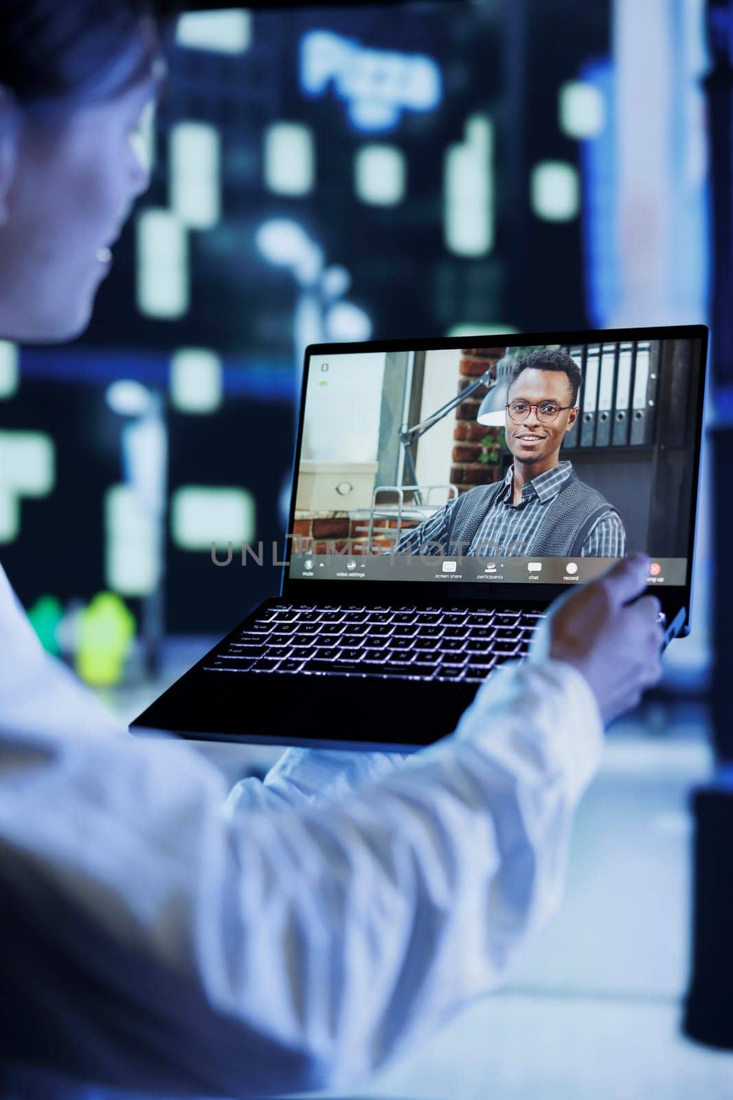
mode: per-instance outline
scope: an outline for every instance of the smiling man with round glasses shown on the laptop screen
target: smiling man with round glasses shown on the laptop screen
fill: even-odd
[[[477,485],[403,536],[393,552],[458,557],[622,558],[626,535],[615,508],[560,462],[578,416],[582,375],[562,351],[520,359],[509,385],[507,476]]]

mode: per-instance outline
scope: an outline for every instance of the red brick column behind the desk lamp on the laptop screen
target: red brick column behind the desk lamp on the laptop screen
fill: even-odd
[[[504,348],[464,348],[458,367],[458,392],[466,389],[485,374],[487,366],[493,366],[491,374],[496,377],[496,364],[504,351]],[[486,449],[481,440],[487,436],[498,439],[501,429],[486,428],[476,422],[478,407],[487,392],[486,386],[480,386],[456,409],[451,481],[458,486],[459,494],[467,493],[475,485],[495,482],[498,477],[499,468],[496,462],[481,462]]]

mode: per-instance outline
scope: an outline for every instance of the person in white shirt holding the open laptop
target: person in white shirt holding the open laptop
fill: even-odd
[[[5,340],[88,324],[147,186],[133,138],[163,9],[0,7]],[[227,799],[43,650],[0,566],[4,1094],[348,1088],[496,988],[557,906],[603,724],[659,676],[658,604],[628,606],[646,570],[563,602],[409,761],[291,750]]]

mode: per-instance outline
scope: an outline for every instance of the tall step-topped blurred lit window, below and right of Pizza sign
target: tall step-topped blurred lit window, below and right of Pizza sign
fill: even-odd
[[[493,127],[475,116],[466,141],[445,160],[445,243],[459,256],[485,256],[493,248]]]

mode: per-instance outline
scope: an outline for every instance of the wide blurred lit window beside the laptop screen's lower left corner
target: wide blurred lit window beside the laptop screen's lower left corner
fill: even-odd
[[[174,542],[184,550],[211,550],[212,542],[241,547],[255,535],[255,498],[240,488],[187,485],[171,499]]]

